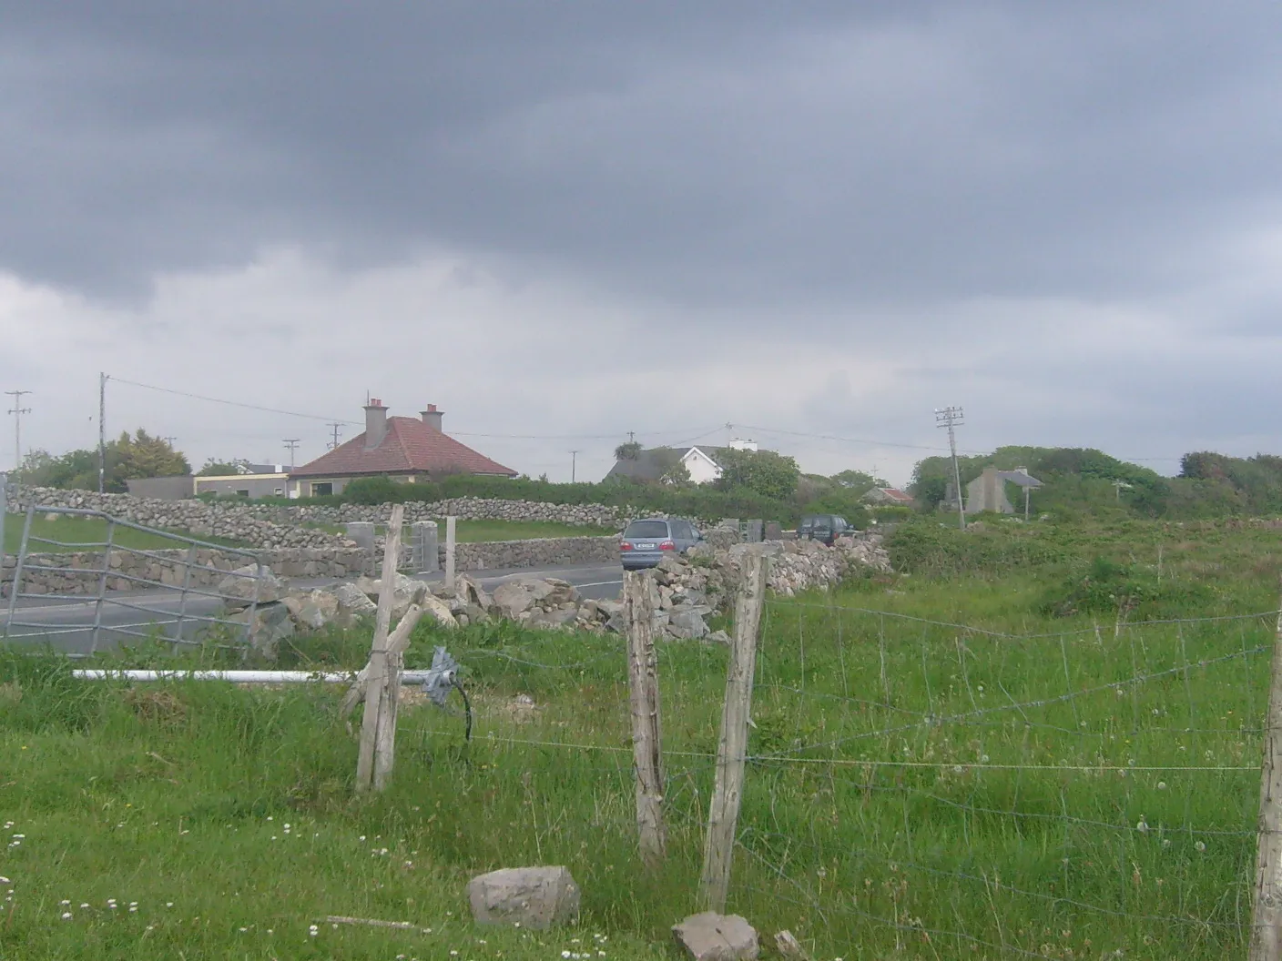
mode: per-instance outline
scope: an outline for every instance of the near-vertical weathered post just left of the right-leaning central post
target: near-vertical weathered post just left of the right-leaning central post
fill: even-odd
[[[628,689],[632,694],[632,757],[637,793],[641,860],[658,865],[667,848],[663,823],[663,737],[659,724],[659,661],[654,651],[654,578],[623,574],[623,607],[628,627]]]

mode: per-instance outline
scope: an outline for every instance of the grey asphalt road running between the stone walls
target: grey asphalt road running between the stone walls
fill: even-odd
[[[423,580],[441,580],[442,573],[415,574]],[[617,564],[596,566],[546,568],[541,570],[486,570],[468,571],[486,591],[499,584],[523,578],[560,578],[574,584],[579,595],[592,598],[618,597],[623,584],[623,569]],[[294,579],[294,587],[314,588],[337,583],[335,579]],[[58,651],[72,656],[87,655],[92,646],[95,619],[100,625],[99,650],[114,650],[121,645],[137,643],[141,637],[153,636],[158,629],[169,638],[179,632],[185,639],[194,639],[208,620],[217,618],[222,602],[213,597],[188,595],[186,606],[177,591],[163,592],[109,592],[101,609],[94,600],[49,601],[37,597],[19,598],[13,615],[8,643],[50,643]],[[147,610],[138,610],[147,609]],[[179,609],[182,625],[179,628]],[[0,609],[0,628],[8,609]],[[6,643],[0,639],[0,643]]]

